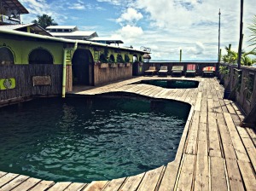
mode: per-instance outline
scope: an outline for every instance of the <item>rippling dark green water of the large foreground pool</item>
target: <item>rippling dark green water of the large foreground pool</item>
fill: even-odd
[[[190,106],[117,97],[47,98],[0,108],[0,171],[91,182],[175,158]]]

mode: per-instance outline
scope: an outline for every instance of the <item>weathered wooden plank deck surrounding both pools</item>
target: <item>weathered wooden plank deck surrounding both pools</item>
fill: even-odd
[[[44,181],[0,171],[0,190],[256,190],[256,134],[239,126],[244,116],[235,102],[223,99],[224,89],[218,80],[191,78],[200,81],[199,87],[185,90],[131,84],[147,78],[159,77],[132,78],[89,90],[80,87],[73,94],[118,91],[188,102],[192,107],[174,161],[134,177],[89,184]]]

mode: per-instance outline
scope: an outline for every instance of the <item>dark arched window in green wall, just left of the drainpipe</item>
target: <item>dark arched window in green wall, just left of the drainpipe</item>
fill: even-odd
[[[53,64],[53,56],[47,49],[33,49],[29,54],[29,64]]]

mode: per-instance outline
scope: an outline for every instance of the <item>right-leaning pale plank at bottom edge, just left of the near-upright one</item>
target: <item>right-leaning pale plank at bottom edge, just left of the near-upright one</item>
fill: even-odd
[[[183,165],[177,183],[177,190],[191,190],[195,170],[195,155],[184,153]]]

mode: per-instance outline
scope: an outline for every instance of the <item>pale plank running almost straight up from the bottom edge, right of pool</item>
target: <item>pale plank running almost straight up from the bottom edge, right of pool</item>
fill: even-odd
[[[194,190],[209,190],[209,161],[208,156],[197,155]]]

